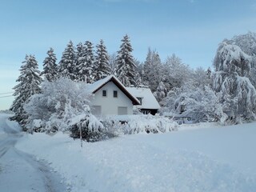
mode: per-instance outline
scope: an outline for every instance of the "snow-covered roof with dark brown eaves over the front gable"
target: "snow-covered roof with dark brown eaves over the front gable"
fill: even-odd
[[[118,86],[118,88],[120,90],[122,90],[122,92],[124,94],[126,94],[126,96],[128,98],[130,98],[130,100],[133,102],[134,105],[139,105],[140,104],[138,99],[133,94],[130,94],[130,92],[126,89],[126,86],[124,86],[122,84],[122,82],[120,82],[118,80],[118,78],[116,78],[113,74],[107,76],[106,78],[102,78],[101,80],[98,80],[97,82],[94,82],[94,83],[90,84],[90,86],[88,86],[88,88],[89,88],[89,90],[92,94],[95,94],[98,90],[100,90],[102,88],[102,86],[105,86],[106,83],[108,83],[108,82],[114,82],[114,84],[116,86]]]

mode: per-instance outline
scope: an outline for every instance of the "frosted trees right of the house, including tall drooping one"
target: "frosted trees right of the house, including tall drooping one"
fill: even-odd
[[[240,123],[256,118],[256,34],[224,39],[218,46],[210,81],[198,75],[170,90],[162,113],[196,122]]]

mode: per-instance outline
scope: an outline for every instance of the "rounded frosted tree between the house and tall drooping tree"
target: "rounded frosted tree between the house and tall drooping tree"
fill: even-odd
[[[162,113],[174,117],[190,117],[194,122],[222,122],[226,121],[225,106],[222,105],[218,94],[210,87],[203,89],[182,86],[170,90],[163,99]]]

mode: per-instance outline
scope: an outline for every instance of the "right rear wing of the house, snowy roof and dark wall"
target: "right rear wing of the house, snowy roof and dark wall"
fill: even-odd
[[[148,87],[126,87],[130,94],[134,95],[140,102],[135,106],[143,114],[156,114],[160,109],[157,99]]]

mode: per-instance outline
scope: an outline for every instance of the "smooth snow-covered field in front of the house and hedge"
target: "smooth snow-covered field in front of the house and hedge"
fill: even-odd
[[[202,123],[179,126],[178,131],[166,134],[84,142],[82,149],[67,134],[23,134],[15,147],[34,155],[38,162],[47,162],[62,175],[70,191],[250,192],[256,189],[255,135],[256,122],[238,126]],[[2,163],[3,157],[0,191],[6,189],[2,178],[11,181],[15,175],[6,174],[13,169],[11,163],[7,167]],[[22,174],[26,177],[26,172],[16,173]]]

